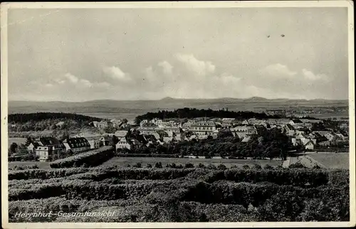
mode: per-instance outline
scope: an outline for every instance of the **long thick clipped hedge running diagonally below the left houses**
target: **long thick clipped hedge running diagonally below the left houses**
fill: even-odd
[[[103,147],[88,151],[74,156],[68,156],[64,159],[58,159],[51,162],[51,168],[70,168],[78,166],[98,166],[108,161],[114,156],[115,150],[112,147]]]

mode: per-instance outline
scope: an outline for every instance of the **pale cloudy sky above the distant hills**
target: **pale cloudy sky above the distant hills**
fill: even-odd
[[[10,9],[8,53],[9,100],[348,98],[341,7]]]

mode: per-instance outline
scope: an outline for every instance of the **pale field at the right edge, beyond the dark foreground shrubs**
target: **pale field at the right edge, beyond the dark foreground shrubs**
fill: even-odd
[[[308,154],[310,158],[318,161],[318,163],[323,164],[325,167],[330,169],[349,169],[349,156],[347,153],[338,154],[328,154],[328,153],[318,153],[318,154]]]

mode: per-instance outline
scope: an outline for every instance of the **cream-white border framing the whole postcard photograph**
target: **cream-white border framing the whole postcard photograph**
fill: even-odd
[[[8,9],[105,9],[105,8],[251,8],[251,7],[347,7],[349,28],[349,115],[350,115],[350,222],[297,223],[8,223],[8,133],[7,133],[7,11]],[[351,227],[355,221],[355,55],[352,1],[165,1],[165,2],[66,2],[1,3],[1,215],[3,228],[290,228]]]

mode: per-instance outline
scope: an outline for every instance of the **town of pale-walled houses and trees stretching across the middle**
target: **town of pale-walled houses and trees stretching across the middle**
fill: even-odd
[[[236,119],[225,117],[141,119],[136,120],[137,123],[128,122],[127,119],[104,119],[89,123],[95,129],[109,130],[110,133],[78,132],[78,134],[72,136],[58,138],[53,136],[34,139],[28,137],[26,144],[9,147],[9,152],[14,152],[14,154],[9,154],[9,160],[21,161],[26,160],[26,158],[36,158],[39,161],[54,161],[104,146],[115,147],[115,151],[120,154],[128,154],[127,156],[130,156],[130,154],[170,154],[172,157],[230,156],[230,158],[233,158],[236,155],[234,151],[231,151],[231,154],[229,152],[214,154],[214,152],[206,151],[193,153],[192,151],[182,152],[182,150],[174,151],[172,149],[167,152],[167,150],[159,150],[159,146],[162,148],[167,145],[214,140],[226,142],[226,139],[221,137],[230,137],[227,142],[234,141],[239,142],[239,144],[248,144],[253,140],[253,137],[261,137],[261,130],[278,131],[285,134],[288,137],[286,143],[290,144],[290,149],[298,149],[299,152],[348,151],[347,120],[315,119],[311,117],[309,119]],[[56,123],[58,128],[63,127],[63,125],[65,125],[63,121]],[[14,150],[16,147],[26,147],[29,155],[16,155]],[[238,149],[235,149],[235,151],[238,151]],[[244,158],[241,155],[236,157]],[[263,158],[261,155],[257,157]]]

